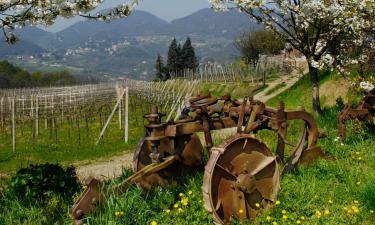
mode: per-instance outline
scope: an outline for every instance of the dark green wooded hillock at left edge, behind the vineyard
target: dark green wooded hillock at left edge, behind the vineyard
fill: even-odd
[[[0,61],[0,88],[61,86],[75,83],[75,78],[67,71],[30,74],[8,61]]]

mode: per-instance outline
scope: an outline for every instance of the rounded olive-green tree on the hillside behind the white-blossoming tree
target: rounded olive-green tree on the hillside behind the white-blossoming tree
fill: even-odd
[[[242,59],[254,67],[258,63],[260,55],[279,54],[285,47],[283,39],[267,30],[244,33],[234,44],[241,52]]]

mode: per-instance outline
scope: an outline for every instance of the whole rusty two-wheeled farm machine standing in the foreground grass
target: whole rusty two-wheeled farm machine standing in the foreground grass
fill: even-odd
[[[323,156],[317,146],[317,124],[304,110],[285,111],[283,102],[278,108],[269,108],[251,97],[238,101],[229,96],[198,96],[189,101],[190,107],[174,122],[163,122],[165,114],[152,107],[144,116],[149,123],[134,153],[134,173],[110,188],[90,178],[88,188],[72,207],[75,224],[83,224],[84,216],[103,203],[107,194],[123,193],[133,184],[145,191],[171,185],[173,175],[182,167],[202,167],[204,148],[197,132],[204,134],[209,156],[202,191],[215,224],[228,224],[233,218],[254,219],[260,209],[276,201],[283,172]],[[293,143],[287,139],[291,121],[301,123],[299,138]],[[214,146],[211,131],[224,128],[236,131]],[[277,133],[275,152],[255,138],[263,129]],[[286,151],[286,146],[291,150]]]

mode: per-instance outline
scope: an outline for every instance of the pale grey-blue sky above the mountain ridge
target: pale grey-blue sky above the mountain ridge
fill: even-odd
[[[97,10],[110,8],[124,2],[126,1],[106,0]],[[147,11],[164,20],[171,21],[209,7],[208,0],[140,0],[139,5],[136,6],[136,10]],[[82,17],[71,19],[60,18],[54,25],[42,28],[50,32],[58,32],[80,20],[84,19]]]

